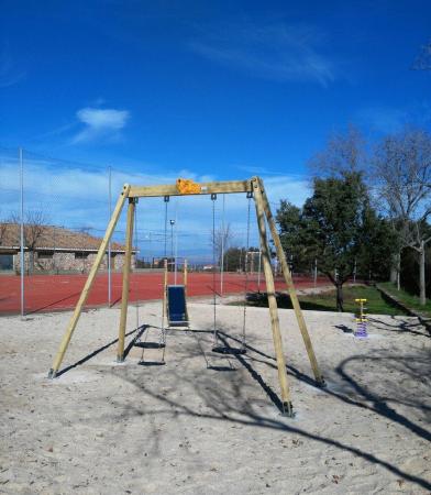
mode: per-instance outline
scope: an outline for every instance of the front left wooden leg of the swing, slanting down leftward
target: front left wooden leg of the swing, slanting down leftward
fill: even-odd
[[[73,333],[75,331],[75,328],[76,328],[76,326],[78,323],[78,319],[80,317],[80,314],[82,312],[82,307],[84,307],[84,305],[87,301],[87,298],[88,298],[88,295],[90,293],[91,286],[92,286],[92,284],[95,282],[97,271],[99,270],[100,263],[102,262],[102,258],[103,258],[104,253],[107,251],[108,243],[109,243],[109,241],[110,241],[110,239],[112,237],[112,233],[113,233],[113,231],[115,229],[117,222],[118,222],[118,220],[120,218],[120,213],[121,213],[121,210],[123,208],[125,198],[129,195],[129,191],[130,191],[130,185],[125,184],[123,186],[123,190],[121,191],[120,197],[119,197],[119,199],[117,201],[117,205],[115,205],[115,208],[113,210],[111,220],[109,221],[109,224],[108,224],[107,231],[104,233],[103,240],[102,240],[102,242],[100,244],[100,248],[99,248],[99,251],[97,253],[95,263],[93,263],[93,265],[92,265],[92,267],[90,270],[90,273],[88,274],[88,278],[87,278],[86,285],[84,286],[81,295],[79,297],[79,300],[78,300],[78,302],[77,302],[77,305],[75,307],[74,315],[71,316],[71,319],[70,319],[70,322],[69,322],[69,324],[67,327],[66,333],[63,337],[63,340],[62,340],[62,343],[59,345],[58,352],[57,352],[57,354],[56,354],[56,356],[54,359],[53,367],[49,370],[48,378],[54,378],[57,375],[58,369],[59,369],[59,366],[62,364],[62,361],[63,361],[63,358],[64,358],[64,355],[66,353],[67,346],[68,346],[68,344],[70,342],[71,336],[73,336]]]

